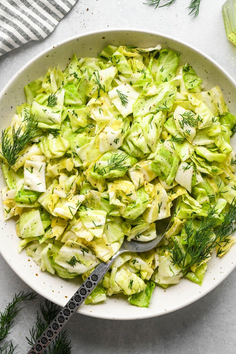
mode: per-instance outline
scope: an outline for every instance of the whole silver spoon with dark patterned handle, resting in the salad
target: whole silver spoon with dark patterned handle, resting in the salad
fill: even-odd
[[[177,198],[178,199],[178,198]],[[50,323],[44,333],[39,337],[38,341],[31,347],[28,354],[41,354],[52,342],[52,340],[58,335],[63,326],[68,322],[71,316],[76,313],[76,310],[82,305],[86,297],[90,295],[93,289],[99,284],[99,281],[104,277],[110,268],[111,264],[115,261],[116,257],[124,252],[146,252],[156,247],[171,222],[171,218],[174,214],[175,207],[177,205],[177,199],[174,199],[171,207],[171,216],[166,219],[156,221],[156,234],[157,237],[154,240],[147,242],[140,241],[127,241],[124,240],[119,251],[115,253],[111,259],[107,262],[100,263],[94,271],[83,282],[75,294],[69,299],[68,303],[61,309],[58,315]]]

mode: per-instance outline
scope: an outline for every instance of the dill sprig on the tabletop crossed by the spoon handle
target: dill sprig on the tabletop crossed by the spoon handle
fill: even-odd
[[[28,344],[33,346],[41,334],[50,325],[52,320],[60,311],[60,307],[53,304],[51,301],[45,300],[45,306],[40,304],[42,316],[37,312],[36,324],[30,330],[30,338],[26,337]],[[66,332],[60,332],[59,335],[50,343],[48,350],[44,353],[49,354],[70,354],[70,341],[67,339]]]

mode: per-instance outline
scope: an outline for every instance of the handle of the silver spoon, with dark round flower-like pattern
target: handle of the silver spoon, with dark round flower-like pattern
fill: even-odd
[[[115,257],[107,263],[100,263],[94,271],[83,282],[75,294],[69,299],[68,303],[61,309],[58,315],[50,323],[44,333],[39,337],[38,341],[31,347],[28,354],[41,354],[58,335],[63,326],[68,322],[71,316],[76,313],[77,308],[82,305],[86,297],[90,295],[93,289],[98,285],[99,281],[107,273]]]

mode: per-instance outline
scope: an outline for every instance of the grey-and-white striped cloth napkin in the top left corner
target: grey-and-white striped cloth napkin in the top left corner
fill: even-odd
[[[0,55],[45,38],[77,0],[0,0]]]

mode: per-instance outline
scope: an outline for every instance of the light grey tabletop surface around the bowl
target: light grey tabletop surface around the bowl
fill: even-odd
[[[18,69],[47,47],[76,34],[108,27],[142,28],[175,36],[207,53],[236,79],[236,46],[225,36],[221,12],[224,1],[201,0],[200,14],[191,20],[186,10],[190,0],[176,0],[168,8],[157,9],[144,5],[145,0],[79,0],[45,40],[30,42],[0,57],[0,89]],[[30,290],[1,256],[0,286],[0,310],[15,293]],[[67,325],[71,353],[236,353],[235,288],[236,271],[197,302],[146,320],[112,321],[75,314]],[[25,336],[35,323],[42,301],[38,297],[26,304],[8,336],[14,344],[19,343],[21,354],[27,352]]]

